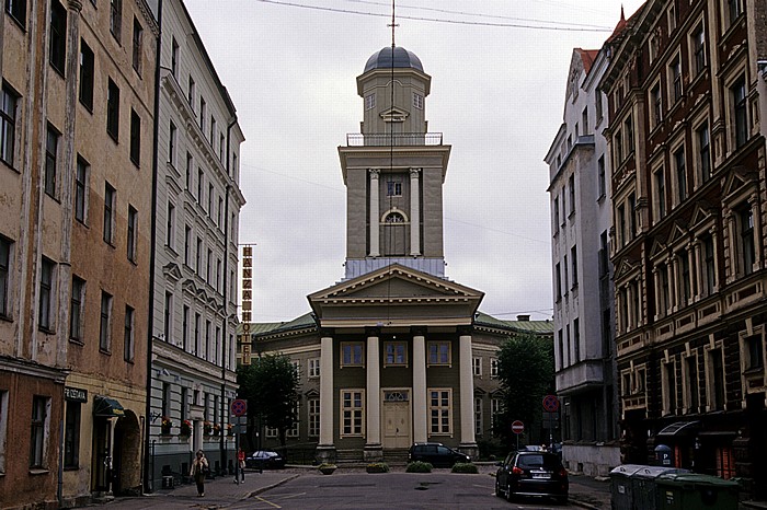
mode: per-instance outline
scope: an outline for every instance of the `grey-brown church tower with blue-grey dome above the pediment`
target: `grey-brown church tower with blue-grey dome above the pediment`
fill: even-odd
[[[399,46],[374,54],[357,77],[360,132],[339,148],[345,279],[391,264],[445,277],[443,184],[450,146],[427,130],[431,82],[421,60]]]

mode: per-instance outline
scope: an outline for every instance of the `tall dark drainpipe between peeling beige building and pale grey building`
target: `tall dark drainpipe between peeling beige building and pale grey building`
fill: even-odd
[[[158,138],[160,129],[160,56],[162,49],[162,0],[157,2],[158,36],[154,50],[154,126],[152,132],[152,217],[157,212],[157,172],[158,172]],[[154,265],[157,250],[157,222],[151,221],[151,236],[149,247],[149,311],[147,317],[147,406],[144,427],[144,490],[152,492],[154,480],[149,477],[150,465],[153,459],[149,456],[149,433],[151,431],[151,394],[152,394],[152,344],[154,341]]]

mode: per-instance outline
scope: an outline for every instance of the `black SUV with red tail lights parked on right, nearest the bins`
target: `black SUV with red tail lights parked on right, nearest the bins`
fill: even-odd
[[[568,472],[556,453],[512,452],[495,473],[495,496],[510,501],[516,496],[542,496],[566,503],[568,489]]]

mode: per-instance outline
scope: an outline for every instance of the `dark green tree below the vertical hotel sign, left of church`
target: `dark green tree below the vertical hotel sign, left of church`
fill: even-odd
[[[297,419],[298,370],[285,355],[265,355],[237,370],[239,396],[248,401],[249,422],[277,429],[285,450],[285,433]],[[249,434],[249,438],[252,436]]]

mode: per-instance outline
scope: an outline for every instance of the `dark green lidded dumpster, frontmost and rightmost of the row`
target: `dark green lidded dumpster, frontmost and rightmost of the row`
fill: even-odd
[[[737,510],[737,482],[697,473],[667,473],[655,484],[662,510]]]

